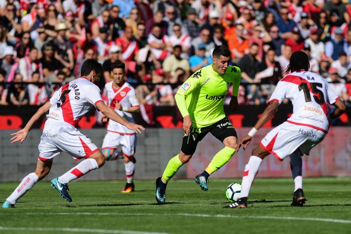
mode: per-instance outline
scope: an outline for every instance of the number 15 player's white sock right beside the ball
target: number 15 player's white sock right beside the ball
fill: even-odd
[[[249,162],[245,165],[243,181],[241,181],[240,198],[249,196],[249,192],[255,179],[255,176],[260,168],[262,159],[257,156],[251,156]]]

